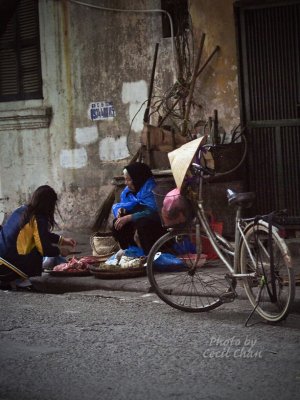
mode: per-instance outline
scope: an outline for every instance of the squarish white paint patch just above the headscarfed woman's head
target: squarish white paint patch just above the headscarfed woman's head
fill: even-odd
[[[99,143],[99,158],[102,161],[122,160],[129,156],[126,136],[120,138],[106,137]]]

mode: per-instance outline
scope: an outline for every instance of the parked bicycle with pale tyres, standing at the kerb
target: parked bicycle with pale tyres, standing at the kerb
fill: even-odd
[[[200,146],[198,160],[209,147]],[[194,187],[189,187],[184,200],[188,201],[193,218],[184,227],[168,228],[153,245],[147,258],[151,287],[161,300],[176,309],[202,312],[233,301],[237,297],[237,281],[241,281],[253,306],[251,315],[256,311],[271,322],[285,319],[295,296],[295,278],[279,227],[265,216],[243,218],[242,211],[252,205],[255,194],[227,189],[229,205],[237,207],[232,244],[212,230],[203,206],[203,180],[214,171],[201,162],[191,163],[189,171]],[[161,196],[160,200],[164,198],[156,195]],[[202,257],[203,237],[208,238],[220,259],[217,266]]]

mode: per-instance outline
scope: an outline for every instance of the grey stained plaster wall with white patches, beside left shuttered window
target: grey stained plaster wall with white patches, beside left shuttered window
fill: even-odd
[[[159,9],[160,1],[101,5],[149,10]],[[143,127],[155,44],[161,41],[170,54],[170,42],[161,39],[157,12],[110,12],[67,0],[40,0],[39,10],[44,98],[0,103],[0,120],[1,111],[28,108],[30,114],[33,107],[49,107],[52,118],[42,129],[0,127],[0,198],[9,197],[0,212],[9,213],[47,183],[59,194],[60,227],[86,228],[130,160],[130,126],[137,135]],[[172,75],[172,66],[159,74]],[[92,120],[91,104],[102,102],[113,105],[114,116]]]

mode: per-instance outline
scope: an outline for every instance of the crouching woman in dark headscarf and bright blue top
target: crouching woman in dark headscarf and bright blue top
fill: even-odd
[[[123,173],[126,187],[121,193],[120,203],[112,208],[115,217],[113,236],[121,249],[127,249],[137,246],[134,239],[137,231],[140,245],[148,254],[156,240],[165,233],[152,192],[156,183],[148,165],[140,162],[127,165]]]

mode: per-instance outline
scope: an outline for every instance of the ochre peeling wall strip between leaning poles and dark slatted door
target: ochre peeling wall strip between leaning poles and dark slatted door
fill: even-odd
[[[198,46],[206,35],[201,65],[220,46],[197,80],[200,116],[207,120],[217,109],[220,126],[230,132],[240,117],[233,1],[191,0],[190,13]]]

